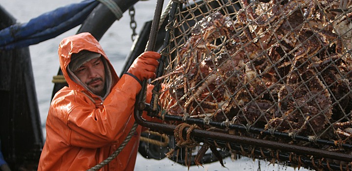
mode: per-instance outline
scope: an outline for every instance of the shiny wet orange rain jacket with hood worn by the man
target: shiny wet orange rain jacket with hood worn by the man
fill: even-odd
[[[112,88],[104,101],[72,81],[67,73],[71,54],[81,50],[100,53],[110,66]],[[119,79],[102,47],[89,33],[64,39],[58,52],[68,87],[59,90],[51,102],[38,171],[86,171],[109,157],[125,140],[134,123],[133,107],[141,85],[127,74]],[[120,154],[100,171],[133,171],[140,133],[138,126]]]

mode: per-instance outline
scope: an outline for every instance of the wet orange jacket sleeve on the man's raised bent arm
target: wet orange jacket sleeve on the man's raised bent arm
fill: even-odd
[[[92,103],[87,107],[80,102],[83,100],[72,99],[71,110],[67,113],[68,144],[99,148],[113,142],[122,143],[134,122],[133,108],[140,89],[141,85],[125,74],[112,88],[102,109]]]

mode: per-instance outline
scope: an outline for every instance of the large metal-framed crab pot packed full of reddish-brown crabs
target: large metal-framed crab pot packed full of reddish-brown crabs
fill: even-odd
[[[248,3],[241,0],[240,3],[229,0],[204,0],[199,3],[198,1],[190,3],[190,0],[185,0],[182,1],[184,2],[182,8],[181,1],[174,0],[172,7],[174,11],[169,13],[167,34],[161,51],[162,61],[157,70],[158,79],[154,82],[155,88],[151,103],[153,109],[149,109],[152,116],[160,117],[165,123],[144,120],[140,116],[140,108],[136,108],[134,116],[137,123],[167,134],[174,134],[176,128],[175,125],[167,124],[170,123],[168,121],[196,124],[203,128],[216,127],[227,132],[194,129],[191,136],[198,142],[216,143],[224,149],[240,151],[239,153],[243,152],[242,155],[253,158],[277,159],[286,161],[288,164],[324,170],[350,170],[352,155],[349,151],[352,150],[352,144],[342,141],[339,135],[333,135],[339,140],[329,139],[329,136],[327,138],[322,135],[341,131],[343,128],[334,128],[334,126],[343,125],[345,121],[349,124],[348,122],[352,120],[351,112],[349,112],[352,110],[349,101],[352,88],[351,81],[347,80],[352,75],[350,68],[352,62],[349,61],[351,41],[346,43],[346,37],[351,36],[352,33],[352,8],[341,6],[341,4],[348,3],[347,5],[351,7],[352,2],[341,1],[340,3],[339,0],[330,0],[329,3],[322,3],[322,0],[296,0],[295,2],[299,2],[297,5],[286,0],[273,4],[276,0],[271,0],[269,7],[265,7],[269,1],[259,1]],[[314,4],[315,2],[317,4]],[[333,6],[336,4],[338,5]],[[258,12],[260,10],[262,12]],[[276,14],[275,10],[277,16],[272,14],[270,17],[267,16],[268,13]],[[310,13],[314,10],[315,13]],[[331,13],[339,13],[339,16],[331,18],[330,14],[326,14],[328,10]],[[223,13],[228,15],[222,17]],[[319,20],[323,20],[324,17],[330,17],[330,21],[319,23]],[[236,23],[231,21],[234,18],[238,20]],[[296,19],[298,21],[302,19],[303,22],[290,23]],[[240,26],[236,25],[241,20]],[[317,26],[311,26],[314,25],[310,23],[311,21],[317,21]],[[339,25],[341,23],[350,25],[345,25],[344,30]],[[307,28],[303,28],[305,24]],[[333,27],[333,31],[330,27]],[[274,29],[271,30],[272,28]],[[300,31],[297,32],[297,30]],[[271,36],[267,37],[265,33],[270,33]],[[245,35],[245,39],[240,38],[241,35]],[[327,38],[331,35],[338,36]],[[342,39],[344,40],[341,41]],[[270,44],[270,42],[274,43]],[[254,49],[250,51],[250,48]],[[221,50],[226,53],[220,53]],[[232,54],[235,55],[232,56]],[[223,61],[220,63],[221,58],[224,59],[226,55],[231,57],[231,66],[237,70],[226,72],[231,71],[231,68],[225,67],[226,64]],[[238,61],[234,62],[234,56]],[[226,60],[225,58],[224,61]],[[263,66],[265,67],[262,68]],[[201,67],[208,68],[205,71],[207,74],[200,72]],[[344,67],[348,68],[346,72],[341,70]],[[221,69],[224,70],[222,75]],[[257,72],[258,70],[260,72]],[[276,82],[270,81],[272,78],[265,75],[268,73],[269,76],[277,79]],[[334,73],[336,77],[330,77],[330,73]],[[191,83],[194,80],[197,80],[197,83]],[[215,84],[216,80],[219,82],[218,85]],[[229,93],[229,89],[234,88],[229,86],[231,82],[241,86]],[[262,87],[265,87],[265,90],[259,91],[256,89],[258,86],[252,86],[258,82],[263,84]],[[274,88],[271,85],[280,84],[284,86],[277,89],[277,92],[272,92]],[[179,85],[184,87],[179,88]],[[169,98],[166,98],[167,100],[162,99],[166,92],[163,89],[165,87],[174,91],[173,94],[170,92],[166,94]],[[185,90],[177,97],[177,93],[183,88]],[[186,88],[188,88],[187,92]],[[220,92],[221,88],[225,89],[223,91],[225,93]],[[259,91],[256,97],[248,93],[253,89]],[[225,98],[226,93],[230,96]],[[236,94],[241,95],[241,93],[249,100],[237,98]],[[271,106],[258,105],[263,102],[261,101],[263,96],[267,96],[265,98],[272,101]],[[170,103],[172,98],[176,105]],[[167,103],[163,103],[163,100]],[[252,102],[254,105],[251,104]],[[192,106],[192,103],[196,105]],[[218,108],[210,108],[210,104],[215,104]],[[267,117],[261,107],[267,111],[266,113],[272,112],[269,116],[273,118]],[[239,120],[234,119],[236,112],[230,110],[231,108],[237,108],[242,112],[241,117],[244,123],[241,123],[242,121],[239,123]],[[244,113],[250,109],[256,110],[249,112],[250,115],[245,115]],[[209,111],[213,113],[206,114]],[[239,111],[237,115],[241,113]],[[192,112],[198,114],[192,114]],[[256,112],[259,115],[258,118],[251,118],[251,115]],[[223,114],[223,118],[214,117],[216,114]],[[205,118],[195,118],[196,115],[204,115]],[[285,117],[281,118],[281,116]],[[266,120],[265,128],[258,126],[259,122],[263,122],[259,121],[259,118]],[[320,123],[323,121],[324,123]],[[297,125],[294,125],[295,123]],[[229,133],[228,130],[236,130],[240,133]],[[186,131],[187,128],[183,130],[183,132]],[[302,131],[311,132],[301,134]],[[348,128],[346,132],[344,131],[342,130],[341,133],[349,134]],[[251,136],[248,136],[249,133]],[[267,137],[271,138],[266,139]],[[324,149],[320,149],[321,147]]]

